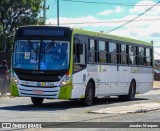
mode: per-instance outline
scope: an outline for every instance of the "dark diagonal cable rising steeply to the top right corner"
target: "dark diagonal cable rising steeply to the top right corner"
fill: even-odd
[[[118,27],[116,27],[116,28],[114,28],[114,29],[112,29],[112,30],[110,30],[109,32],[107,32],[107,33],[110,33],[110,32],[112,32],[112,31],[115,31],[115,30],[118,30],[119,28],[122,28],[123,26],[125,26],[125,25],[127,25],[127,24],[129,24],[129,23],[131,23],[131,22],[133,22],[133,21],[135,21],[137,18],[139,18],[140,16],[142,16],[142,15],[144,15],[146,12],[148,12],[148,11],[150,11],[153,7],[155,7],[157,4],[159,4],[160,3],[160,1],[158,1],[156,4],[154,4],[153,6],[151,6],[150,8],[148,8],[147,10],[145,10],[144,12],[142,12],[142,13],[140,13],[138,16],[136,16],[135,18],[133,18],[133,19],[131,19],[130,21],[128,21],[128,22],[126,22],[126,23],[124,23],[124,24],[122,24],[122,25],[120,25],[120,26],[118,26]]]

